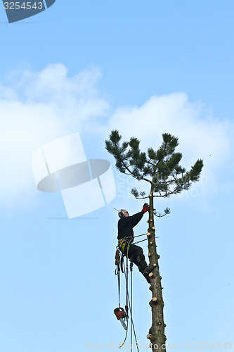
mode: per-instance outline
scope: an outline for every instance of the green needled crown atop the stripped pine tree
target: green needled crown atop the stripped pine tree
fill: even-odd
[[[162,134],[160,148],[157,151],[149,148],[147,153],[140,151],[140,141],[136,137],[122,144],[121,139],[119,132],[112,130],[110,139],[105,141],[105,148],[115,157],[117,169],[137,180],[150,182],[154,196],[167,197],[179,193],[199,180],[203,161],[197,160],[190,171],[186,171],[179,164],[182,154],[176,152],[177,137],[169,133]],[[136,198],[145,196],[145,192],[139,192],[136,188],[131,193]]]

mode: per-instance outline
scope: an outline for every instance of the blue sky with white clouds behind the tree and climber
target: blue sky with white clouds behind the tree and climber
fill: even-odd
[[[122,343],[113,314],[113,208],[136,213],[142,202],[130,195],[134,180],[119,175],[105,151],[113,128],[141,139],[144,150],[160,146],[163,132],[175,134],[186,168],[204,159],[199,184],[155,204],[171,208],[156,222],[167,344],[196,351],[196,342],[234,343],[233,10],[226,0],[57,0],[10,25],[1,6],[1,352]],[[60,194],[37,191],[31,156],[75,132],[87,158],[111,161],[117,196],[68,220]],[[136,234],[146,232],[145,220]],[[135,269],[143,345],[149,301]]]

